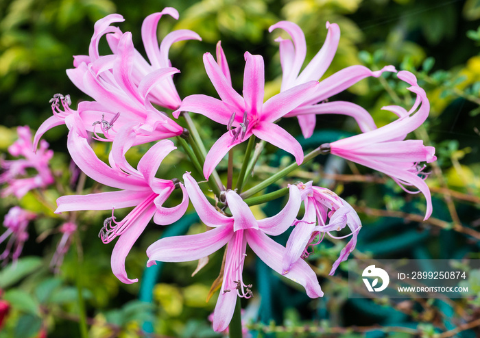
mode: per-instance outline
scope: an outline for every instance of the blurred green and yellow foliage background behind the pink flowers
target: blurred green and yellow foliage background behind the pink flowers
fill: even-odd
[[[455,223],[472,231],[477,231],[480,225],[480,27],[477,21],[480,1],[4,0],[0,2],[0,150],[5,152],[14,141],[14,127],[37,128],[51,116],[48,101],[56,92],[71,94],[74,106],[88,99],[69,81],[65,70],[73,67],[72,55],[88,53],[95,21],[112,12],[122,14],[125,22],[119,27],[132,31],[134,44],[143,53],[140,36],[143,18],[169,5],[179,10],[180,20],[162,18],[160,38],[171,29],[193,29],[203,38],[202,42],[182,42],[171,49],[173,66],[182,71],[176,78],[182,97],[193,93],[216,95],[204,72],[202,55],[206,51],[214,53],[217,40],[222,41],[226,52],[234,88],[241,92],[243,53],[250,51],[265,58],[267,96],[276,94],[280,88],[280,60],[274,38],[280,33],[268,34],[267,29],[279,20],[293,21],[302,27],[307,38],[307,60],[322,47],[326,22],[339,24],[339,49],[325,76],[353,64],[364,64],[374,70],[393,64],[399,70],[415,73],[431,102],[431,118],[416,137],[435,146],[438,157],[428,180],[434,197],[433,218],[445,222],[448,228],[421,222],[405,224],[403,218],[379,217],[365,211],[361,213],[363,229],[357,255],[382,259],[422,255],[480,259],[478,238],[449,230]],[[101,48],[106,51],[105,44]],[[412,101],[405,85],[393,76],[362,81],[335,99],[362,105],[379,126],[395,118],[393,114],[385,114],[381,107],[392,104],[409,107]],[[220,135],[219,128],[204,123],[202,116],[195,116],[195,121],[202,125],[200,131],[206,146],[211,146]],[[327,129],[347,128],[359,132],[357,127],[352,127],[352,121],[337,116],[318,116],[317,125],[319,135]],[[296,128],[300,134],[300,129]],[[52,168],[58,180],[68,186],[66,133],[66,128],[56,127],[45,138],[56,151]],[[97,144],[95,148],[103,159],[108,150],[106,144]],[[132,164],[143,152],[139,147],[129,153]],[[236,156],[241,161],[239,153]],[[275,149],[267,148],[267,155],[257,166],[260,176],[263,168],[275,158]],[[282,165],[281,161],[278,163]],[[319,172],[325,167],[324,162],[311,164],[307,166],[311,171],[299,172],[298,177],[318,182]],[[160,168],[163,177],[169,178],[180,177],[186,170],[189,170],[189,162],[182,155],[169,159],[165,168]],[[347,166],[345,172],[379,179],[365,168],[353,165]],[[265,177],[268,174],[263,172]],[[221,176],[225,176],[224,172]],[[405,195],[392,181],[385,185],[353,179],[337,183],[335,192],[355,200],[360,207],[415,214],[421,214],[424,208],[421,198]],[[99,189],[90,180],[86,187],[85,193]],[[64,193],[73,194],[73,190]],[[136,299],[140,285],[123,285],[117,281],[110,273],[112,245],[101,244],[97,239],[99,224],[108,212],[79,214],[81,241],[76,239],[73,252],[65,257],[60,273],[53,276],[47,266],[60,239],[60,234],[53,229],[60,224],[61,218],[52,212],[58,196],[60,192],[51,187],[43,192],[43,199],[30,193],[20,201],[25,209],[36,211],[42,217],[34,221],[31,238],[16,267],[8,265],[0,271],[0,288],[5,290],[2,297],[12,304],[8,321],[0,331],[1,338],[36,337],[41,330],[47,330],[48,337],[77,337],[77,283],[81,285],[91,318],[91,337],[143,337],[146,335],[145,322],[154,323],[152,330],[159,335],[219,337],[206,320],[208,313],[213,311],[215,296],[209,302],[204,300],[217,276],[221,255],[211,257],[210,263],[194,277],[191,273],[195,263],[166,264],[161,280],[152,290],[152,303],[140,302]],[[3,198],[1,213],[4,215],[8,207],[16,203],[14,198]],[[121,212],[118,216],[122,216]],[[159,235],[160,228],[154,225],[141,237],[127,260],[129,274],[141,276],[146,261],[145,248]],[[278,303],[281,307],[271,307],[269,317],[265,310],[268,290],[262,290],[261,299],[254,298],[248,303],[251,311],[263,311],[261,321],[250,320],[250,327],[259,337],[273,337],[272,333],[277,333],[278,337],[292,337],[293,333],[296,337],[317,337],[317,333],[308,334],[309,326],[324,328],[325,332],[347,328],[333,335],[363,337],[363,333],[355,333],[353,329],[374,324],[385,328],[401,326],[405,330],[417,330],[422,337],[434,337],[440,329],[458,326],[480,315],[478,293],[477,298],[461,300],[455,304],[455,309],[449,310],[438,302],[424,304],[409,300],[398,304],[348,300],[346,266],[342,264],[336,276],[327,276],[331,262],[343,246],[339,241],[324,242],[311,255],[311,263],[317,267],[326,294],[321,300],[305,299],[293,294],[291,286],[283,283],[278,286],[276,276],[265,277],[272,285],[274,297],[291,297]],[[82,263],[75,251],[82,253]],[[250,266],[252,268],[245,270],[246,281],[255,281],[256,275],[263,276],[260,268],[255,268],[254,264]],[[478,272],[470,278],[468,283],[475,285]],[[272,300],[272,304],[277,303]],[[383,333],[372,331],[368,337],[385,337]],[[473,328],[458,337],[478,337],[479,332],[478,328]],[[411,335],[396,332],[388,337]]]

